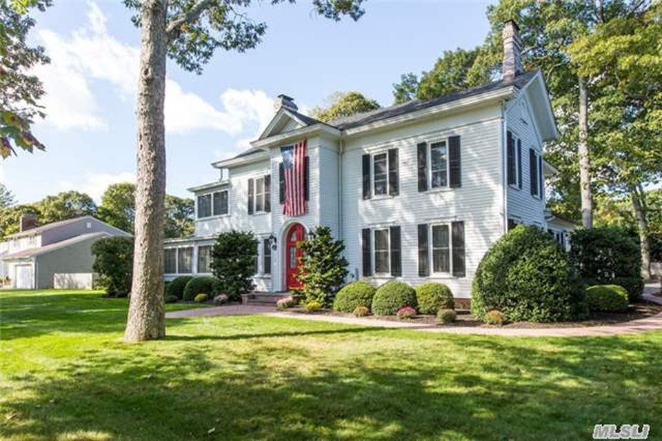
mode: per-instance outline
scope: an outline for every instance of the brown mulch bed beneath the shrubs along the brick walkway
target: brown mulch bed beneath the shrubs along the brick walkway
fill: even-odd
[[[300,314],[310,314],[305,311],[304,308],[290,308],[286,310],[291,313],[300,313]],[[446,326],[446,327],[474,327],[474,326],[490,326],[484,324],[483,322],[477,320],[470,311],[467,310],[457,310],[457,320],[449,324],[439,324],[437,323],[436,317],[434,315],[416,315],[413,319],[408,320],[408,322],[414,324],[434,324],[437,326]],[[516,322],[505,324],[501,327],[503,328],[528,328],[528,329],[544,329],[544,328],[578,328],[581,326],[601,326],[605,324],[614,324],[614,323],[623,323],[630,322],[632,320],[638,320],[646,317],[651,317],[662,313],[662,305],[647,302],[641,300],[641,302],[636,302],[630,304],[628,311],[624,313],[593,313],[591,317],[587,320],[580,320],[577,322],[560,322],[560,323],[531,323],[531,322]],[[336,315],[339,317],[354,317],[352,314],[338,313],[330,309],[324,309],[317,313],[312,313],[317,315]],[[391,320],[393,322],[399,322],[400,320],[394,315],[368,315],[367,317],[361,317],[364,319],[372,320]]]

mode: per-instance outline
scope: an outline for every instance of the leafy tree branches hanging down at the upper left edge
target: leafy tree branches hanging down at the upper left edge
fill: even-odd
[[[34,19],[28,8],[43,12],[50,0],[0,1],[0,156],[16,154],[16,148],[30,153],[45,147],[32,135],[34,117],[44,117],[39,98],[43,86],[30,69],[49,62],[43,47],[30,46],[28,32]]]

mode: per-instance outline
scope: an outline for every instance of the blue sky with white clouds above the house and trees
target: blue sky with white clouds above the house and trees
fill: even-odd
[[[263,43],[243,54],[219,51],[203,75],[168,63],[168,193],[217,179],[209,164],[241,151],[272,116],[272,99],[294,97],[304,111],[337,90],[359,90],[383,106],[404,72],[432,67],[443,50],[472,48],[488,31],[481,1],[365,3],[358,21],[317,17],[310,1],[251,8],[268,23]],[[62,190],[99,202],[112,182],[135,175],[135,70],[139,30],[119,1],[56,1],[37,15],[32,39],[52,63],[43,79],[48,116],[34,132],[46,153],[6,159],[0,181],[18,202]]]

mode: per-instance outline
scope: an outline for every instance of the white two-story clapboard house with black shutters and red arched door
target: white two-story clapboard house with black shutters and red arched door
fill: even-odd
[[[218,161],[217,182],[190,190],[194,237],[165,242],[165,276],[209,273],[210,246],[231,229],[260,240],[257,291],[297,286],[297,241],[329,226],[350,280],[438,281],[470,297],[488,248],[514,224],[552,229],[543,144],[557,136],[545,81],[523,72],[516,25],[504,32],[503,78],[430,101],[325,124],[279,96],[249,150]],[[307,143],[307,213],[283,215],[281,148]],[[554,231],[563,230],[554,226]]]

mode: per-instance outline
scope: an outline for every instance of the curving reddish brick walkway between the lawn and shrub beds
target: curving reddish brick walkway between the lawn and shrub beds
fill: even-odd
[[[644,298],[651,302],[662,304],[662,297],[652,295],[660,291],[659,284],[647,285]],[[572,337],[595,335],[621,335],[642,333],[662,329],[662,313],[631,322],[607,324],[603,326],[581,326],[576,328],[499,328],[496,326],[434,326],[430,324],[416,324],[408,322],[394,322],[391,320],[375,320],[359,317],[339,317],[337,315],[310,315],[300,313],[276,312],[270,306],[219,306],[217,308],[189,309],[167,313],[167,318],[197,317],[199,315],[248,315],[263,314],[269,317],[280,317],[297,320],[313,320],[317,322],[357,324],[361,326],[374,326],[377,328],[410,329],[412,331],[472,334],[472,335],[503,335],[514,337]]]

